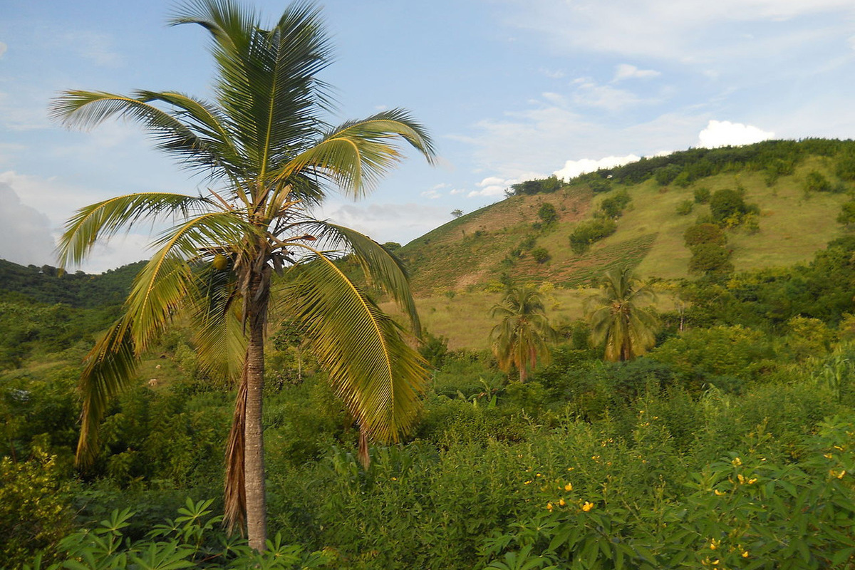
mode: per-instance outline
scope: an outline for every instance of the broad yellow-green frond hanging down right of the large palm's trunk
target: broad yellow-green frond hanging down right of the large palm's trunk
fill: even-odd
[[[320,252],[292,267],[280,303],[303,326],[318,361],[361,429],[380,441],[410,430],[429,373],[388,316]]]

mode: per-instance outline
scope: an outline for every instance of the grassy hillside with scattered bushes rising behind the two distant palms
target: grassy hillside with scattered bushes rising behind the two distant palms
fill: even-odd
[[[698,221],[711,220],[703,196],[732,189],[757,209],[748,224],[722,224],[735,269],[789,266],[846,234],[836,220],[842,205],[852,201],[853,165],[852,141],[686,150],[567,183],[515,185],[503,201],[452,220],[397,253],[410,264],[421,297],[495,290],[508,279],[590,285],[619,265],[636,267],[645,278],[686,278],[692,254],[684,234]],[[621,196],[627,203],[615,214],[609,203]],[[539,216],[544,204],[554,209],[550,223]],[[615,231],[574,251],[571,234],[606,218]]]

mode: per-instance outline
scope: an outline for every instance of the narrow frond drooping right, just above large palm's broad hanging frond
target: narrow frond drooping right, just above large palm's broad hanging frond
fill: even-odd
[[[421,334],[422,325],[410,291],[410,275],[398,256],[363,233],[345,226],[313,220],[309,227],[310,232],[315,231],[317,237],[326,238],[333,248],[346,248],[362,265],[366,279],[391,295],[410,319],[413,331]]]

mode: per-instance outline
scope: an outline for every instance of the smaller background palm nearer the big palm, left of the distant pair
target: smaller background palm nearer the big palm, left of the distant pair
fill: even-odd
[[[548,343],[555,337],[540,293],[530,285],[510,287],[502,302],[490,309],[490,316],[502,319],[490,332],[498,367],[506,373],[516,367],[520,382],[525,382],[539,358],[542,363],[549,361]]]

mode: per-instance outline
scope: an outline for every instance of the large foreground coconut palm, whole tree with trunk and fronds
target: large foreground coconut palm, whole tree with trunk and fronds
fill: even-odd
[[[140,356],[175,315],[190,314],[200,359],[238,385],[227,445],[227,524],[245,525],[251,546],[263,549],[262,386],[270,311],[304,330],[363,443],[406,432],[428,380],[400,327],[333,261],[340,252],[357,259],[418,330],[404,267],[366,236],[315,220],[311,208],[331,187],[363,196],[400,160],[399,143],[428,162],[435,155],[424,128],[401,109],[327,125],[330,100],[317,73],[327,66],[329,44],[311,4],[292,4],[265,29],[251,9],[232,0],[194,0],[172,23],[210,32],[213,101],[175,91],[65,91],[52,104],[52,115],[69,127],[136,121],[156,148],[202,173],[209,186],[199,196],[113,197],[68,220],[59,246],[63,267],[139,221],[166,216],[174,222],[156,238],[123,316],[85,361],[77,459],[85,465],[97,455],[99,420],[109,397],[133,381]]]

